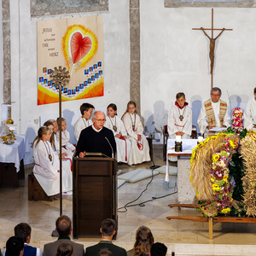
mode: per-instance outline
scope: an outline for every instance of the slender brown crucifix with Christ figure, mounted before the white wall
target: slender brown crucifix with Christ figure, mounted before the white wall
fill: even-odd
[[[210,58],[210,61],[211,61],[211,78],[212,78],[212,83],[211,83],[211,86],[213,84],[213,67],[214,67],[214,50],[215,50],[215,42],[216,40],[220,37],[220,35],[224,32],[224,31],[232,31],[233,29],[230,29],[230,28],[213,28],[213,9],[212,9],[212,28],[192,28],[192,30],[201,30],[202,32],[204,32],[204,34],[207,36],[207,38],[210,40],[210,49],[209,49],[209,58]],[[211,30],[212,31],[212,38],[210,38],[208,35],[207,35],[207,30]],[[215,30],[218,30],[220,31],[218,33],[218,36],[216,38],[213,38],[213,31]]]

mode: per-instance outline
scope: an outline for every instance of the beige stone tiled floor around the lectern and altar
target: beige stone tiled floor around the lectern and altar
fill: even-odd
[[[163,166],[161,150],[154,149],[156,165]],[[120,165],[124,172],[135,168],[148,168],[152,163],[131,167]],[[26,166],[26,173],[31,167]],[[27,177],[27,175],[26,175]],[[154,176],[147,191],[136,202],[151,200],[172,194],[176,188],[168,189],[164,183],[164,174]],[[118,189],[119,207],[133,201],[145,189],[150,178],[137,183],[125,183]],[[171,177],[171,186],[176,183],[176,177]],[[115,241],[121,247],[130,249],[133,246],[137,227],[148,226],[155,241],[161,241],[168,247],[168,255],[256,255],[256,224],[214,224],[213,240],[208,239],[207,223],[186,220],[167,220],[167,216],[201,216],[195,211],[182,211],[168,207],[177,202],[177,194],[149,201],[142,206],[128,207],[127,212],[119,212],[119,230]],[[136,204],[135,203],[135,204]],[[63,214],[72,218],[72,195],[63,195]],[[123,210],[123,209],[122,209]],[[56,238],[50,236],[55,229],[55,218],[59,216],[59,201],[27,201],[27,178],[20,182],[19,189],[0,189],[0,247],[3,248],[9,236],[13,236],[14,227],[20,222],[32,226],[32,246],[41,247]],[[78,242],[84,247],[95,244],[99,239],[81,238]]]

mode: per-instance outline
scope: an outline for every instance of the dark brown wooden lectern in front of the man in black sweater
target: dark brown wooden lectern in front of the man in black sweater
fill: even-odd
[[[73,158],[73,238],[101,236],[102,220],[117,222],[117,162]]]

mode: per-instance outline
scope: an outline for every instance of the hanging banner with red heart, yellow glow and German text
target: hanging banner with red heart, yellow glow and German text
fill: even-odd
[[[38,21],[38,105],[59,101],[49,75],[60,66],[71,77],[63,102],[103,96],[102,16]]]

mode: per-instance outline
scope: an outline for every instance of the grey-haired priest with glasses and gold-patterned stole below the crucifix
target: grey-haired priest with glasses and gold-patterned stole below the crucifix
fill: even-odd
[[[213,127],[230,126],[230,115],[227,111],[227,103],[220,100],[221,90],[213,87],[211,90],[211,99],[208,99],[201,106],[201,111],[197,119],[197,125],[201,135],[204,137],[212,136],[215,132]]]

